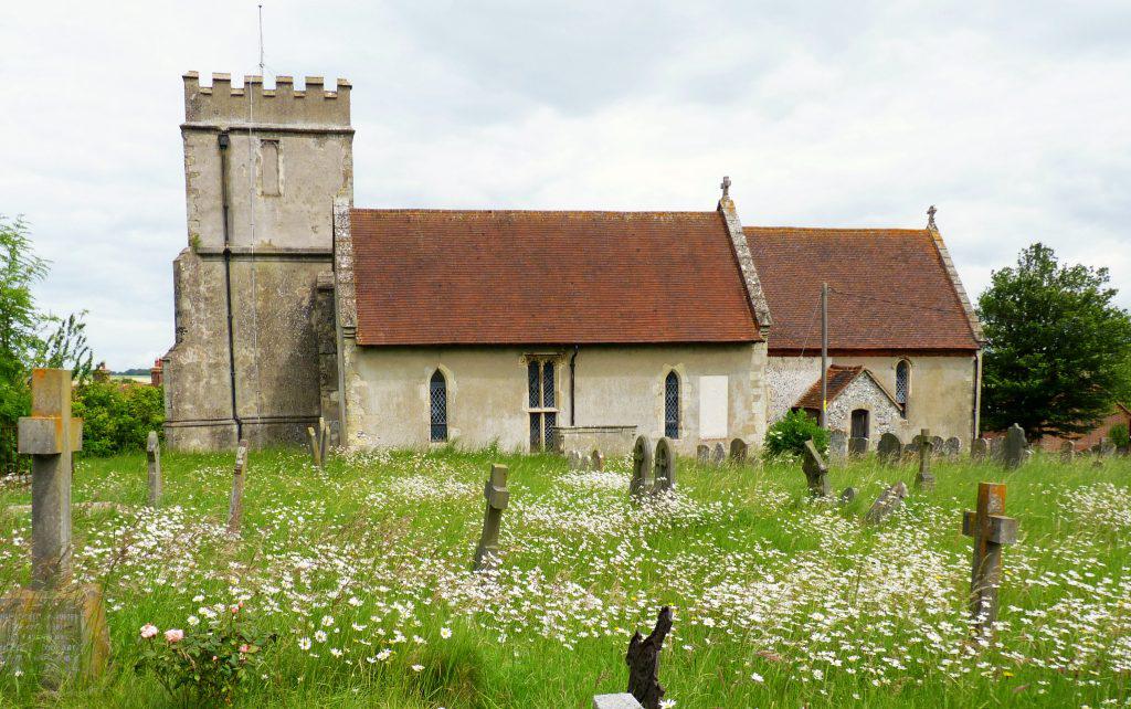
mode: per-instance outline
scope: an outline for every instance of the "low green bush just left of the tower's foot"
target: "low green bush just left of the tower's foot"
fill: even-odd
[[[92,382],[75,390],[74,414],[83,418],[83,451],[113,456],[141,450],[150,431],[161,433],[165,405],[161,387]]]

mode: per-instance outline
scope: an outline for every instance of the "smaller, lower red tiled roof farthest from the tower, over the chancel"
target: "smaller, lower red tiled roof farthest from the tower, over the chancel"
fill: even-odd
[[[771,351],[820,349],[822,282],[832,349],[978,347],[927,230],[743,231],[774,315]]]

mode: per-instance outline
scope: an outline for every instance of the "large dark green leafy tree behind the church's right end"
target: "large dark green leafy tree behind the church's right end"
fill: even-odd
[[[993,273],[978,299],[985,427],[1083,433],[1131,391],[1131,317],[1110,280],[1106,268],[1062,266],[1041,243]]]

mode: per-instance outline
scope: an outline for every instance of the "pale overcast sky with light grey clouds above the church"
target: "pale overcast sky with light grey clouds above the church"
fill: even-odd
[[[181,75],[256,74],[256,5],[0,12],[0,214],[111,369],[173,341]],[[1131,306],[1125,0],[264,5],[269,86],[353,81],[360,206],[713,209],[729,174],[748,225],[935,204],[972,296],[1039,240]]]

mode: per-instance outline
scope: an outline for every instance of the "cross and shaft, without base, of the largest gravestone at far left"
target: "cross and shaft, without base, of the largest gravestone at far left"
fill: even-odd
[[[19,420],[17,439],[17,450],[32,456],[32,585],[53,587],[70,578],[71,453],[83,450],[69,370],[32,372],[32,415]]]

